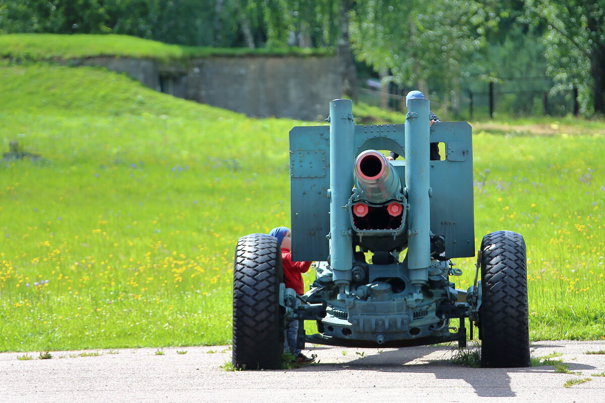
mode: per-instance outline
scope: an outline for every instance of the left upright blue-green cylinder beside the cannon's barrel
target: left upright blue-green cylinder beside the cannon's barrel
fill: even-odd
[[[354,134],[351,100],[330,102],[330,267],[340,294],[350,283],[353,268],[353,230],[346,205],[353,184]]]

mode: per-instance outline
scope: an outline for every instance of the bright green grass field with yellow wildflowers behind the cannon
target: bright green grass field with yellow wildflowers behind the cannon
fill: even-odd
[[[0,163],[0,351],[229,343],[235,243],[289,225],[303,123],[44,64],[0,65],[0,105],[3,152],[40,154]],[[531,338],[603,337],[605,123],[473,126],[477,246],[525,236]]]

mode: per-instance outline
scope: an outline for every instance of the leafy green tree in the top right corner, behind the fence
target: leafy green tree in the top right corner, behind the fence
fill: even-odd
[[[605,114],[605,0],[526,0],[548,23],[548,74],[557,88],[578,87],[584,112]],[[556,89],[556,88],[555,88]]]

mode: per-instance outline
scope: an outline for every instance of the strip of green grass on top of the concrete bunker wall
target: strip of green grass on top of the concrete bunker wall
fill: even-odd
[[[13,60],[79,59],[95,56],[175,60],[211,56],[325,56],[327,48],[210,48],[168,45],[126,35],[4,34],[0,57]]]

